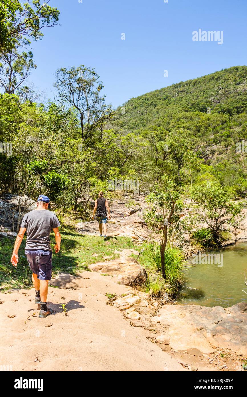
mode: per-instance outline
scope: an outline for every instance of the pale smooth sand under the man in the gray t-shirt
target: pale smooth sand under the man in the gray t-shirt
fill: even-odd
[[[13,371],[185,370],[149,341],[142,328],[130,326],[106,304],[105,293],[121,295],[128,287],[99,273],[84,272],[82,277],[76,290],[49,287],[48,306],[56,312],[45,319],[38,318],[34,289],[0,294],[0,365]]]

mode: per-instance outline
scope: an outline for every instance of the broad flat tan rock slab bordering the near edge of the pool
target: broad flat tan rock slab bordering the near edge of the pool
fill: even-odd
[[[213,353],[214,349],[229,349],[247,355],[247,304],[230,308],[221,306],[166,305],[153,317],[166,326],[165,335],[174,351]],[[191,354],[192,354],[191,353]]]

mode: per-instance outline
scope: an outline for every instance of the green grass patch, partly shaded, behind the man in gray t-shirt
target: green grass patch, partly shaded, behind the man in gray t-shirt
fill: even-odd
[[[78,274],[83,270],[88,270],[88,265],[105,262],[104,256],[109,259],[119,258],[119,254],[114,251],[122,249],[133,249],[135,246],[128,237],[108,237],[107,240],[98,236],[79,234],[75,229],[61,227],[61,250],[58,254],[53,251],[52,256],[52,277],[56,277],[59,272]],[[14,246],[14,239],[0,239],[0,286],[6,289],[28,288],[33,285],[31,270],[25,256],[24,237],[19,248],[19,263],[14,268],[10,263],[11,254]],[[52,248],[55,245],[55,236],[51,234]],[[92,256],[97,254],[97,256]]]

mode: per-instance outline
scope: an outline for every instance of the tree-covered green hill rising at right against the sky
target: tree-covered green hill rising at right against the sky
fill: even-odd
[[[169,163],[168,153],[178,155],[174,143],[185,145],[203,159],[200,180],[241,185],[245,195],[246,108],[247,67],[235,66],[132,98],[118,109],[117,125],[147,138],[155,165]],[[170,145],[161,155],[164,142]]]

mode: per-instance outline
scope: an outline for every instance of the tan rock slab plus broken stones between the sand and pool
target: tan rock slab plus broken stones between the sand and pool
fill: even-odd
[[[211,355],[213,365],[217,365],[215,355],[220,355],[220,351],[228,352],[232,362],[247,355],[246,303],[226,309],[220,306],[162,306],[149,294],[130,290],[113,305],[123,311],[131,325],[152,331],[148,339],[164,348],[168,345],[174,352],[207,358]],[[238,370],[241,370],[241,363]]]

